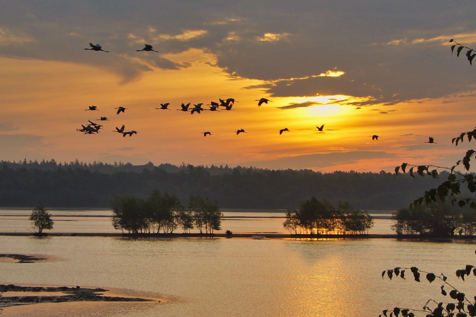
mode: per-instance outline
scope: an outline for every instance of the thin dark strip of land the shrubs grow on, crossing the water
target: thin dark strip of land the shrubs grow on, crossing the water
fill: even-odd
[[[45,233],[44,233],[45,234]],[[2,232],[0,236],[38,236],[34,233],[14,233]],[[261,239],[298,239],[298,240],[325,240],[325,239],[397,239],[411,241],[434,241],[434,242],[465,242],[476,243],[476,236],[453,236],[453,237],[427,237],[427,236],[398,236],[398,235],[290,235],[274,233],[243,233],[243,234],[126,234],[126,233],[46,233],[41,237],[59,237],[59,236],[102,236],[102,237],[122,237],[122,238],[250,238]]]

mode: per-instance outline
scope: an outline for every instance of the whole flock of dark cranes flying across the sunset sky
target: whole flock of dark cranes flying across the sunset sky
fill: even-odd
[[[152,48],[152,45],[149,45],[149,44],[144,44],[145,47],[142,49],[142,50],[136,50],[136,51],[154,51],[154,52],[159,52],[159,51],[155,51],[153,50]],[[89,46],[91,48],[86,48],[84,50],[91,50],[91,51],[104,51],[104,52],[107,52],[109,53],[109,51],[105,51],[102,49],[101,45],[99,44],[96,44],[94,45],[93,43],[89,43]],[[233,107],[233,105],[235,104],[235,102],[238,102],[236,101],[234,98],[228,98],[226,100],[222,100],[222,99],[219,99],[218,98],[218,102],[210,102],[210,104],[207,104],[207,106],[210,106],[209,109],[203,109],[201,106],[203,105],[203,103],[198,103],[198,104],[194,104],[194,107],[193,108],[189,108],[190,107],[190,102],[188,102],[187,104],[184,104],[182,103],[181,105],[181,109],[176,109],[178,111],[183,111],[183,112],[190,112],[190,114],[193,114],[194,112],[197,112],[197,113],[200,113],[200,111],[219,111],[219,107],[224,107],[225,110],[235,110],[235,109],[231,109]],[[272,100],[269,100],[269,99],[266,99],[266,98],[261,98],[261,99],[257,99],[255,100],[258,102],[258,106],[261,106],[263,103],[266,103],[268,104],[268,101],[272,102]],[[155,108],[155,109],[160,109],[160,110],[172,110],[172,109],[169,109],[170,103],[167,102],[167,103],[160,103],[160,108]],[[91,110],[91,111],[94,111],[94,110],[98,110],[97,109],[98,107],[97,106],[89,106],[89,109],[85,109],[85,111],[88,111],[88,110]],[[124,107],[118,107],[118,108],[114,108],[114,109],[117,109],[118,111],[116,112],[117,114],[119,114],[120,112],[123,112],[125,113],[124,111],[125,110],[128,110],[128,108],[124,108]],[[91,122],[90,120],[89,121],[89,124],[86,124],[86,125],[83,125],[81,124],[82,128],[81,129],[76,129],[77,131],[79,132],[83,132],[84,134],[95,134],[95,133],[99,133],[99,130],[102,129],[102,125],[101,124],[98,124],[98,123],[94,123],[94,122]],[[109,119],[107,117],[100,117],[99,119],[97,119],[96,121],[109,121]],[[135,130],[132,130],[132,131],[124,131],[124,124],[122,125],[122,127],[119,129],[118,127],[116,127],[116,130],[114,130],[113,132],[117,132],[117,133],[120,133],[122,134],[123,137],[125,137],[126,135],[129,135],[129,136],[132,136],[132,134],[137,134],[138,132],[135,131]],[[319,132],[324,132],[324,124],[322,124],[320,127],[316,126],[317,130],[315,131],[319,131]],[[284,128],[284,129],[281,129],[279,130],[279,134],[282,134],[283,132],[285,131],[290,131],[288,128]],[[238,129],[237,131],[234,131],[237,133],[237,135],[239,133],[247,133],[244,129]],[[213,133],[210,133],[209,131],[206,131],[206,132],[202,132],[203,133],[203,136],[207,136],[207,135],[213,135]],[[374,134],[374,135],[370,135],[372,137],[372,140],[378,140],[378,138],[380,136]],[[433,140],[433,137],[428,137],[428,142],[424,142],[424,143],[436,143],[434,142]]]

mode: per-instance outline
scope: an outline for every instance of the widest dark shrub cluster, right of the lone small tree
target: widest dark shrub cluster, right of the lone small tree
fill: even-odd
[[[175,195],[154,190],[146,198],[131,195],[116,196],[112,203],[112,225],[128,233],[173,233],[181,228],[184,233],[197,228],[200,233],[212,234],[221,230],[218,202],[208,197],[190,196],[188,206]]]

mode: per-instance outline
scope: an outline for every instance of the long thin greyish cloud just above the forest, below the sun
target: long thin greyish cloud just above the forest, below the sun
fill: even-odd
[[[283,157],[277,160],[246,162],[242,166],[256,166],[269,169],[304,169],[304,168],[324,168],[337,164],[352,164],[360,160],[383,159],[396,157],[393,153],[352,151],[335,153],[316,153],[293,157]]]

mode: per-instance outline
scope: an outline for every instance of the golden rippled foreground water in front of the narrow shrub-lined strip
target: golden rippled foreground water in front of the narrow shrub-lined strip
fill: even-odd
[[[440,295],[441,283],[417,283],[410,272],[407,280],[382,280],[382,270],[395,266],[444,272],[450,283],[475,295],[476,276],[462,282],[454,274],[476,263],[474,250],[468,243],[395,239],[0,236],[0,253],[58,259],[0,263],[0,283],[129,288],[175,298],[113,315],[97,306],[87,316],[377,317],[385,308],[422,307],[429,298],[448,301]],[[71,308],[64,316],[78,315]]]

